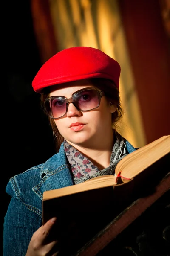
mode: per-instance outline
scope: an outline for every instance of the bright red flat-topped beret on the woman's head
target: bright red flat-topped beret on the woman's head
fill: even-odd
[[[42,65],[32,87],[35,92],[55,84],[90,78],[106,78],[119,89],[120,65],[99,49],[71,47],[64,49]]]

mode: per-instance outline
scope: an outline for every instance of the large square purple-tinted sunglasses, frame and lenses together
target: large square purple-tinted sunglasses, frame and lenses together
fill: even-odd
[[[45,99],[44,107],[48,116],[53,119],[64,117],[68,111],[68,105],[73,105],[81,112],[98,108],[104,92],[94,87],[88,87],[76,91],[67,99],[64,96],[52,96]]]

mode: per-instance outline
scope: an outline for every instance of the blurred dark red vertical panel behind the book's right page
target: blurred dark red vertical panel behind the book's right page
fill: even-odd
[[[170,38],[159,0],[118,1],[147,143],[170,134]]]

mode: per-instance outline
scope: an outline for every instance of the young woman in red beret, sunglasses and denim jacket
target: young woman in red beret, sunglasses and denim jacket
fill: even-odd
[[[116,131],[119,76],[119,64],[91,47],[62,50],[38,71],[32,86],[41,94],[57,154],[9,180],[4,256],[57,255],[59,241],[47,239],[57,219],[42,226],[43,192],[114,175],[117,163],[135,150]]]

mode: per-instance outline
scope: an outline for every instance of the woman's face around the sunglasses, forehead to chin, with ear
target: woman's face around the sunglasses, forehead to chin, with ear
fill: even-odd
[[[94,86],[87,80],[54,85],[51,87],[50,96],[64,96],[69,99],[77,90],[87,87]],[[116,107],[103,96],[99,107],[92,111],[81,112],[70,103],[67,114],[54,121],[60,134],[71,145],[97,146],[102,141],[104,143],[106,137],[112,133],[111,113],[115,111]]]

